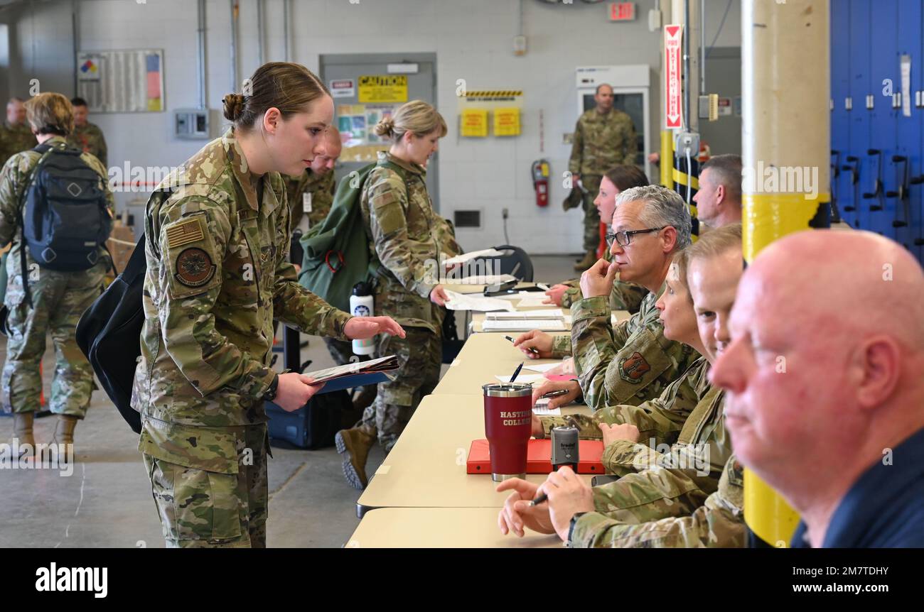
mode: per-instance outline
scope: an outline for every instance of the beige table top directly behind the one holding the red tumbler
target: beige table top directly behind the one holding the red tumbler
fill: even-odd
[[[433,395],[445,393],[475,394],[481,397],[481,385],[498,382],[497,376],[512,375],[521,362],[551,364],[557,359],[529,359],[505,335],[517,333],[476,333],[468,337],[455,361],[440,379]],[[524,368],[520,375],[536,374]]]

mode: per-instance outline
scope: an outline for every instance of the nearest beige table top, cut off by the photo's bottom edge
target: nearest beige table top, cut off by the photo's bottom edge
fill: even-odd
[[[496,508],[380,508],[362,517],[346,548],[561,548],[555,535],[502,535]]]

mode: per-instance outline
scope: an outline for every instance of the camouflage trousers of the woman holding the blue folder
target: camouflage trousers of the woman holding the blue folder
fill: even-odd
[[[142,453],[167,548],[266,547],[266,425],[223,429],[235,438],[237,474],[211,472]]]

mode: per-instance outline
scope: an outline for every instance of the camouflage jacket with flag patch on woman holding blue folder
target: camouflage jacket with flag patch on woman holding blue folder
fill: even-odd
[[[299,285],[288,262],[282,178],[251,174],[233,130],[154,190],[145,236],[145,322],[132,406],[167,423],[142,431],[141,450],[163,449],[194,427],[265,422],[261,396],[274,378],[274,318],[346,339],[349,315]],[[214,436],[201,445],[230,448],[220,432]]]

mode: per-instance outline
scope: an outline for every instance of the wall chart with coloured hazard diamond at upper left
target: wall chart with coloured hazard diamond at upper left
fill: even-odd
[[[77,95],[91,113],[163,112],[164,50],[80,52]]]

